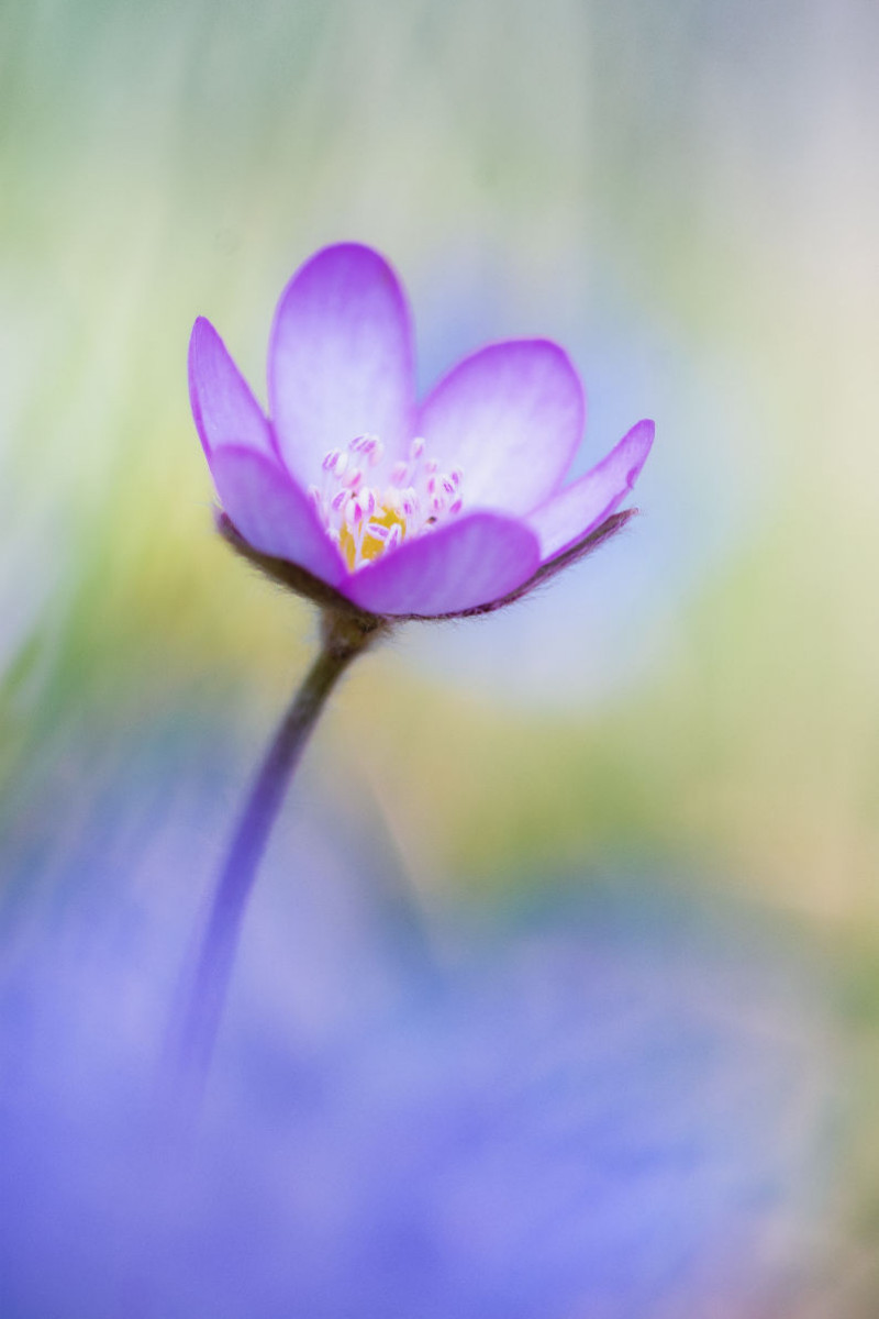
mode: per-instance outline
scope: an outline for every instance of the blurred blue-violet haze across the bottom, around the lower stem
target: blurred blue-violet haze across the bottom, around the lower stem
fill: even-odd
[[[145,806],[136,761],[79,901],[12,923],[1,1314],[799,1312],[837,1100],[784,940],[660,874],[426,906],[306,776],[181,1130],[159,1057],[216,811],[167,781]]]

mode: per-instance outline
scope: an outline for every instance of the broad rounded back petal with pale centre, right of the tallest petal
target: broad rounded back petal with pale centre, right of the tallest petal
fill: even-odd
[[[528,513],[557,488],[582,435],[585,397],[548,339],[490,344],[440,380],[418,433],[441,468],[460,467],[467,503]]]

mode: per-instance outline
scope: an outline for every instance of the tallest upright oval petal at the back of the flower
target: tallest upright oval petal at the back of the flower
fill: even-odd
[[[378,252],[340,243],[294,274],[271,328],[269,404],[283,460],[303,485],[324,454],[365,433],[402,456],[415,414],[412,330]]]

